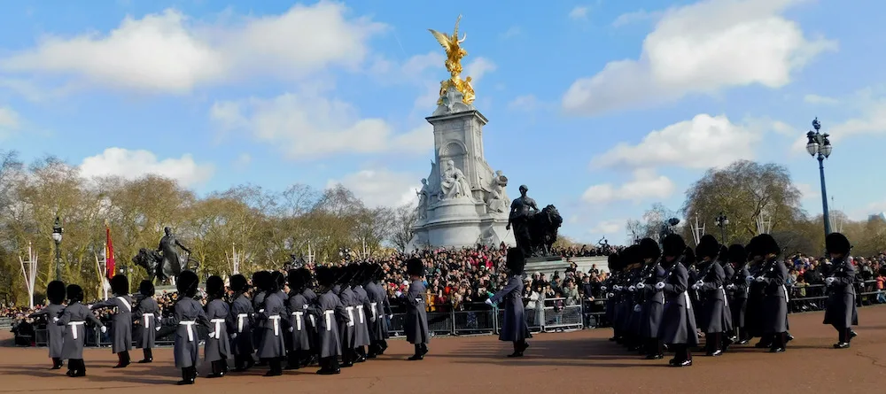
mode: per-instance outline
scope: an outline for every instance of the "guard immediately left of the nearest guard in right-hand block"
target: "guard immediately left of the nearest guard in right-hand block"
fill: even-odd
[[[664,267],[661,265],[662,251],[652,238],[640,241],[639,252],[646,267],[643,268],[637,292],[642,301],[640,336],[645,341],[646,359],[663,359],[664,344],[658,339],[658,327],[664,312],[664,291],[656,289],[657,282],[664,282]]]

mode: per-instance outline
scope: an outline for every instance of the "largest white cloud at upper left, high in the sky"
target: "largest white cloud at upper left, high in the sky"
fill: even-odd
[[[246,76],[298,79],[330,66],[356,67],[385,25],[348,19],[344,4],[297,4],[280,15],[215,24],[175,9],[127,16],[107,34],[48,35],[0,58],[7,72],[72,76],[117,89],[183,93]]]

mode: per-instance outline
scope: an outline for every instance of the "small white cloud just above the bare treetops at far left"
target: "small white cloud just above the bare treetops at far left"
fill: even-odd
[[[101,154],[84,158],[80,172],[86,178],[116,175],[136,179],[146,174],[156,174],[190,187],[209,181],[215,174],[215,167],[198,164],[190,154],[160,160],[150,151],[108,148]]]

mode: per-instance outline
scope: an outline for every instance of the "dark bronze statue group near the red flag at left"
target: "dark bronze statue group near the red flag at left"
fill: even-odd
[[[190,258],[190,249],[186,248],[172,234],[172,228],[163,228],[166,234],[160,238],[159,247],[156,251],[142,248],[138,251],[132,262],[139,267],[144,267],[148,272],[148,280],[154,282],[167,282],[184,270],[196,270],[200,265],[197,260]],[[183,255],[175,250],[178,246],[187,254]]]

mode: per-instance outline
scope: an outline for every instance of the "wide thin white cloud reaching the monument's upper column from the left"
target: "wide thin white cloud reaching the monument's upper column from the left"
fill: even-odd
[[[424,154],[433,146],[431,125],[394,134],[387,121],[361,118],[354,105],[307,89],[271,99],[216,102],[210,118],[224,129],[245,131],[275,145],[291,159],[386,151]]]

